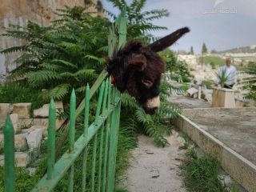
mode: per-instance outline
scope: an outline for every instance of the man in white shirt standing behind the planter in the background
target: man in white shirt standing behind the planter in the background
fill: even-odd
[[[218,76],[222,76],[222,73],[226,71],[226,82],[224,84],[224,88],[228,88],[228,89],[232,89],[234,84],[236,82],[239,82],[240,79],[238,78],[238,74],[237,74],[237,70],[235,68],[235,66],[231,65],[231,59],[230,58],[226,58],[226,64],[224,66],[222,66],[219,70],[218,70]],[[217,77],[216,82],[219,84],[220,79]]]

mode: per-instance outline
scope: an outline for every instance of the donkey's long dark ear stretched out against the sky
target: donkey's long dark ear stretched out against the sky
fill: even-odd
[[[166,49],[168,46],[171,46],[176,42],[179,38],[181,38],[184,34],[190,32],[188,27],[184,27],[182,29],[174,31],[174,33],[167,35],[164,38],[160,38],[158,41],[151,43],[148,47],[154,52],[158,52]]]

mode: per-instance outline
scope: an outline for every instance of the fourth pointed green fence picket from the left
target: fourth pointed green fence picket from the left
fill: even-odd
[[[86,98],[85,98],[85,115],[84,115],[84,131],[83,136],[88,136],[89,127],[89,109],[90,109],[90,87],[86,86]],[[87,146],[82,151],[82,192],[86,191],[86,161],[87,161]]]

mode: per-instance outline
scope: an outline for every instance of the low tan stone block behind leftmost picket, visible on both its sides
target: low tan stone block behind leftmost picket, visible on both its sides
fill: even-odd
[[[30,154],[15,152],[15,166],[28,166],[31,162]],[[4,166],[4,155],[0,154],[0,166]]]

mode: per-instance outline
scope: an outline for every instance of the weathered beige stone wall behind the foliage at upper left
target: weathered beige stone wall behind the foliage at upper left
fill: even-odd
[[[96,3],[97,0],[92,2]],[[64,6],[85,6],[86,0],[1,0],[0,3],[0,34],[4,33],[10,25],[26,26],[28,21],[36,22],[40,26],[47,26],[57,18],[54,10]],[[101,14],[101,13],[99,13]],[[0,50],[10,46],[19,46],[22,41],[14,38],[0,37]],[[14,60],[19,53],[0,54],[0,84],[17,65]]]

